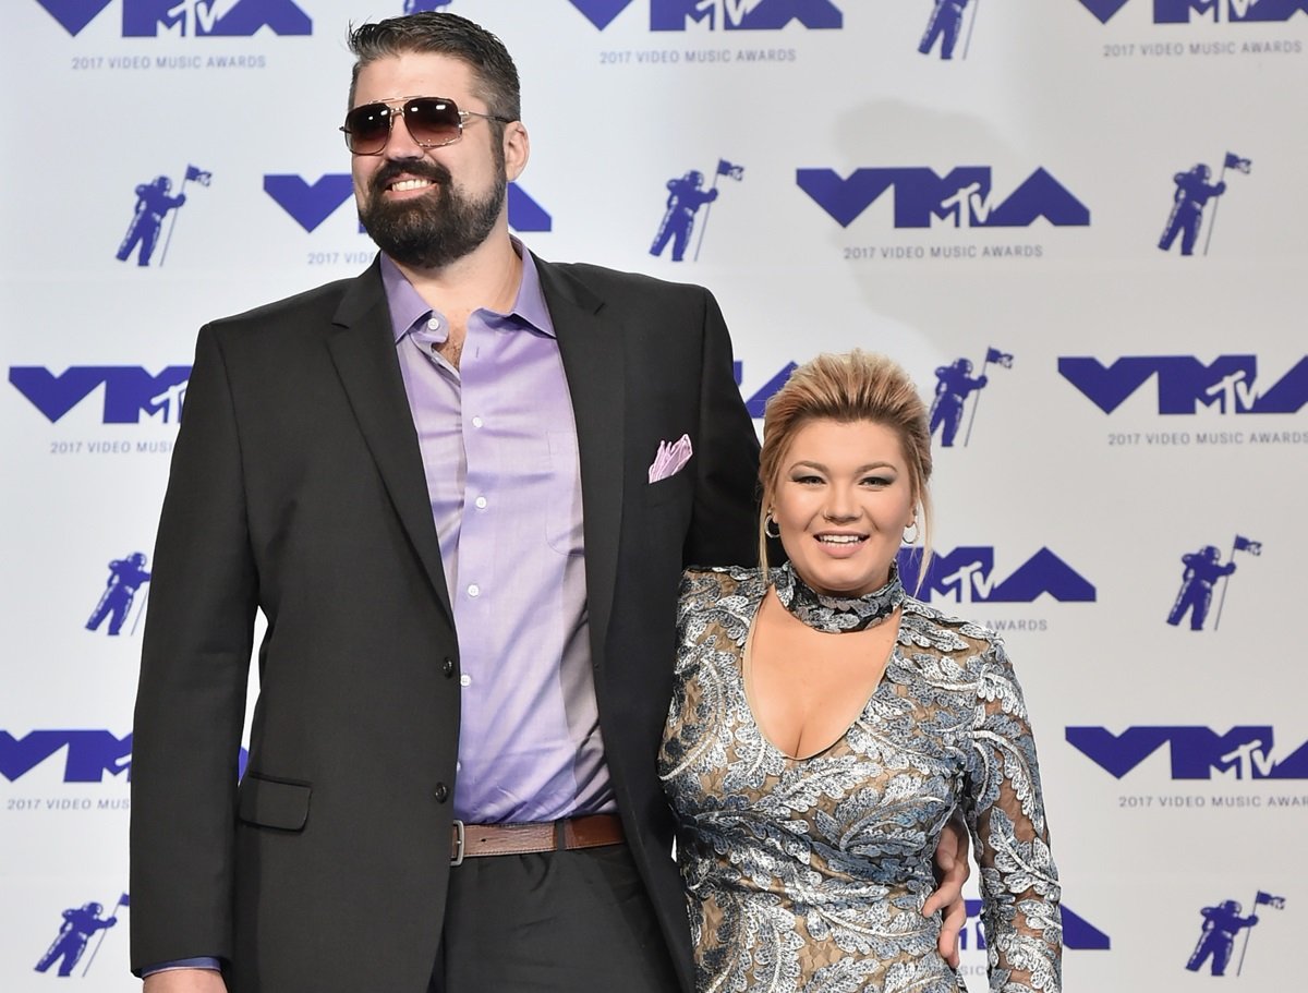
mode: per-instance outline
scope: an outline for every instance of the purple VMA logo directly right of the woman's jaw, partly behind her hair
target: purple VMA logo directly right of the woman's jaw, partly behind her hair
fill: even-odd
[[[1005,580],[994,572],[994,548],[989,546],[963,546],[933,555],[918,586],[921,561],[920,548],[899,553],[905,589],[916,589],[923,601],[937,594],[954,603],[1032,603],[1045,593],[1059,603],[1095,601],[1095,586],[1048,548],[1041,548]]]

